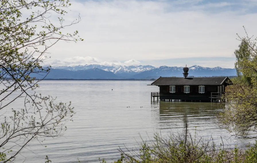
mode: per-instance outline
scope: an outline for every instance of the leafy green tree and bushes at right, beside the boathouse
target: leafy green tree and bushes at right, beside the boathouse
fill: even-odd
[[[219,120],[225,128],[239,138],[257,138],[257,38],[238,35],[241,41],[235,51],[237,71],[245,77],[235,78],[228,86],[223,98],[226,104]]]

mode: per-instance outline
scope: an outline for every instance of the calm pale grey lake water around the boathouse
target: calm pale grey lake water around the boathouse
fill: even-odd
[[[192,134],[196,127],[205,138],[212,136],[220,143],[222,136],[225,144],[234,145],[229,133],[216,125],[216,114],[222,109],[219,103],[151,102],[151,92],[159,91],[157,86],[147,86],[151,82],[42,81],[37,92],[72,101],[74,121],[61,138],[47,138],[42,145],[31,142],[16,162],[45,162],[46,155],[56,163],[77,162],[77,158],[95,163],[99,157],[111,162],[120,156],[119,146],[137,147],[139,134],[149,140],[154,132],[180,133],[186,123]]]

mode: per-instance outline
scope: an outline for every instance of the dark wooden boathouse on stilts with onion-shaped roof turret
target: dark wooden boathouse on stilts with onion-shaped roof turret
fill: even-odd
[[[190,78],[188,70],[184,67],[184,77],[159,77],[151,83],[159,87],[159,92],[151,92],[151,100],[220,102],[226,86],[233,84],[228,77]]]

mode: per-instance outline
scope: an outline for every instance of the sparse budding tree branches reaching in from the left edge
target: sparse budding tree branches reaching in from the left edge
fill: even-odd
[[[41,64],[58,41],[82,40],[78,31],[64,31],[80,21],[64,25],[70,5],[66,0],[0,1],[0,162],[13,162],[32,140],[61,136],[72,120],[70,103],[36,94],[40,80],[33,78],[47,75],[49,67]]]

